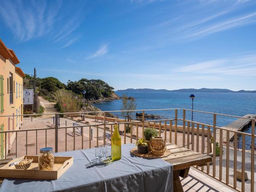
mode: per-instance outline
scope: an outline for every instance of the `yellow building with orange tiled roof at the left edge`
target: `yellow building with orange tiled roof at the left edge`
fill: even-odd
[[[8,49],[0,39],[0,131],[17,130],[22,124],[22,116],[1,117],[23,114],[23,71],[16,67],[20,61],[15,52]],[[15,134],[0,133],[0,159],[8,154]],[[6,150],[5,150],[6,146]]]

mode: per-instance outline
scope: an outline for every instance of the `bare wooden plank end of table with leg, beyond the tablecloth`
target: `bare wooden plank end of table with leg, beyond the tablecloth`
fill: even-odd
[[[171,151],[171,154],[168,157],[163,157],[163,160],[173,165],[174,192],[183,192],[180,177],[186,178],[191,166],[205,166],[206,163],[212,160],[212,157],[208,155],[172,143],[167,143],[166,148]]]

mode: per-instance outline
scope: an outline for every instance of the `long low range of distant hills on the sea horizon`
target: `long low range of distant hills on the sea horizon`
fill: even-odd
[[[233,91],[229,89],[177,89],[177,90],[166,90],[166,89],[125,89],[125,90],[117,90],[118,92],[182,92],[182,93],[256,93],[256,90],[247,91],[247,90],[239,90]]]

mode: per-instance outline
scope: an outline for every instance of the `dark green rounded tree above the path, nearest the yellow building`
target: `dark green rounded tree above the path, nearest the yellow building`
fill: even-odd
[[[61,81],[59,81],[55,77],[46,77],[40,79],[40,87],[41,89],[45,89],[48,92],[54,92],[58,89],[64,89],[66,85],[61,83]]]

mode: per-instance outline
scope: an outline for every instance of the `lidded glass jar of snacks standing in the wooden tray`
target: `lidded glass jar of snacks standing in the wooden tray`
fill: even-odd
[[[40,149],[38,157],[39,170],[53,171],[54,169],[54,154],[52,147],[45,147]]]

